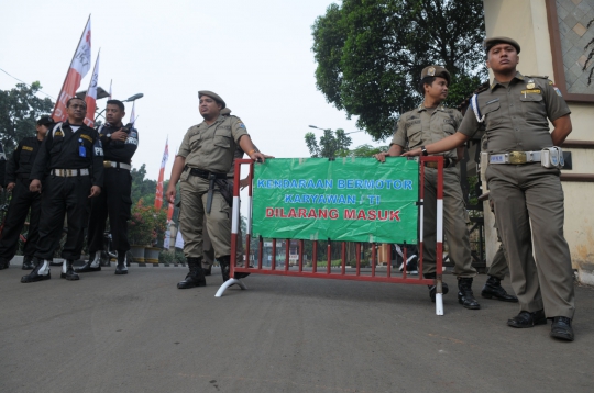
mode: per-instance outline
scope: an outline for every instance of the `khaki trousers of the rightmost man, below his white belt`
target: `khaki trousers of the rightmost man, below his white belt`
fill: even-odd
[[[563,236],[559,170],[538,162],[490,165],[486,179],[520,311],[544,308],[547,317],[573,318],[573,270]]]

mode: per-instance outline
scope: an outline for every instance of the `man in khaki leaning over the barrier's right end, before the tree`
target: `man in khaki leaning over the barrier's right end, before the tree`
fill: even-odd
[[[384,161],[386,156],[399,156],[405,148],[413,149],[418,146],[425,148],[424,145],[455,133],[462,122],[462,114],[442,104],[448,97],[449,85],[450,72],[446,68],[429,66],[422,70],[419,91],[425,94],[425,100],[417,109],[400,116],[389,150],[375,155],[378,160]],[[479,310],[481,305],[472,292],[476,270],[472,267],[466,227],[468,213],[460,187],[460,172],[455,167],[459,153],[461,151],[452,148],[443,155],[443,231],[448,237],[450,258],[454,262],[453,273],[458,277],[458,301],[465,308]],[[427,162],[425,169],[422,267],[427,279],[436,278],[437,165],[435,164]],[[448,285],[443,283],[443,294],[448,291]],[[435,284],[429,285],[429,295],[435,301]]]

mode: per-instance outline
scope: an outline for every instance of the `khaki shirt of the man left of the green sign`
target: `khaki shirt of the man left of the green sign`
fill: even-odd
[[[248,130],[241,119],[221,115],[211,125],[202,122],[191,126],[177,155],[190,168],[227,173],[243,135],[248,135]]]

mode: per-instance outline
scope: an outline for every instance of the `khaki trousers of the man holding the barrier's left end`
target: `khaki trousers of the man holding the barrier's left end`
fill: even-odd
[[[206,213],[209,182],[189,171],[184,172],[179,184],[182,209],[179,229],[184,237],[186,258],[202,257],[202,232],[208,229],[216,258],[231,255],[231,209],[215,186],[210,214]]]

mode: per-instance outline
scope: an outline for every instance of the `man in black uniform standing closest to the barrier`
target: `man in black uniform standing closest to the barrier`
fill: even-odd
[[[113,248],[118,251],[116,274],[128,274],[125,254],[128,243],[128,220],[130,220],[132,200],[132,177],[130,176],[132,156],[139,147],[139,132],[132,125],[123,126],[124,104],[119,100],[107,102],[107,124],[98,128],[103,145],[105,187],[101,194],[91,201],[88,247],[89,260],[78,273],[101,270],[101,250],[103,232],[109,215],[109,226],[113,238]]]

